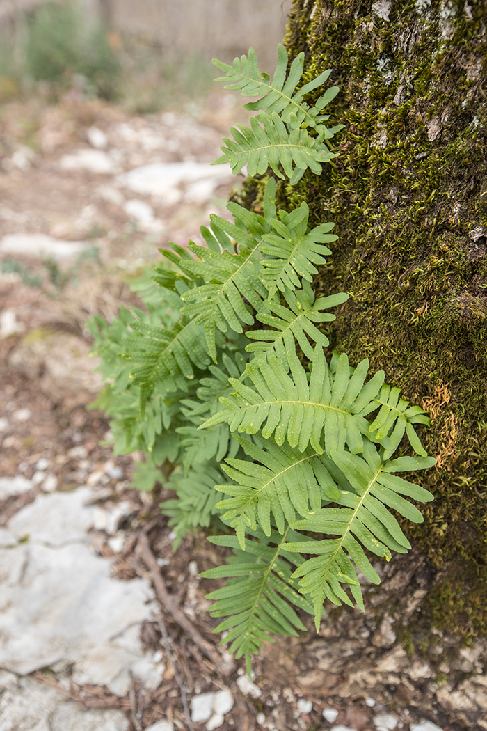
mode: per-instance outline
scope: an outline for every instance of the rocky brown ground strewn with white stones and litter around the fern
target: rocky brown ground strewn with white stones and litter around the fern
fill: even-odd
[[[146,118],[73,95],[1,112],[0,729],[487,729],[485,647],[452,661],[439,636],[434,656],[407,655],[372,588],[365,615],[266,647],[250,681],[211,634],[199,572],[215,547],[190,536],[172,553],[164,490],[129,487],[132,458],[85,409],[100,385],[86,319],[136,303],[131,273],[224,214],[235,181],[209,163],[230,99]],[[412,616],[427,567],[387,568]]]

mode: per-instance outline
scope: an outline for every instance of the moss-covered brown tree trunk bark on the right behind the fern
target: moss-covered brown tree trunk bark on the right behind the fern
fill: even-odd
[[[315,281],[350,293],[332,347],[431,412],[417,621],[466,640],[487,630],[486,21],[485,0],[294,0],[288,51],[310,78],[333,69],[345,129],[334,164],[279,193],[336,223]]]

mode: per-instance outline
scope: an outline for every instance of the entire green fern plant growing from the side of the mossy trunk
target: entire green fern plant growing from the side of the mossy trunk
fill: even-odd
[[[122,309],[91,327],[110,379],[97,403],[112,417],[115,453],[145,452],[144,489],[155,467],[170,474],[175,499],[161,508],[175,547],[211,525],[220,534],[209,540],[233,549],[202,576],[227,580],[207,595],[223,618],[215,632],[250,673],[266,640],[305,629],[300,612],[318,631],[323,602],[364,609],[357,570],[378,584],[369,555],[388,561],[410,548],[391,511],[419,523],[410,499],[433,498],[397,473],[435,460],[415,431],[429,417],[383,371],[367,380],[368,360],[326,358],[321,324],[348,299],[312,289],[337,239],[333,224],[310,228],[305,203],[276,210],[275,177],[293,184],[336,156],[328,141],[342,126],[327,127],[323,109],[337,87],[305,101],[330,71],[299,87],[304,54],[288,69],[283,45],[272,82],[253,49],[233,66],[215,64],[226,88],[259,97],[247,105],[250,127],[231,129],[215,164],[267,175],[263,212],[229,203],[233,221],[211,216],[202,227],[207,246],[161,249],[169,266],[137,285],[147,311]],[[414,455],[394,456],[406,443]]]

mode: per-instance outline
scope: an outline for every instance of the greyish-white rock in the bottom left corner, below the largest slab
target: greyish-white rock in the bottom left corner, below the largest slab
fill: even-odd
[[[49,718],[64,699],[57,690],[23,678],[19,686],[7,688],[0,696],[0,729],[53,731]]]

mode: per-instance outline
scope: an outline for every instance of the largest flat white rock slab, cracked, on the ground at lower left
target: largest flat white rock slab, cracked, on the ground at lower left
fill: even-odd
[[[27,674],[63,660],[75,682],[97,685],[137,662],[139,645],[122,648],[119,636],[150,619],[152,594],[145,580],[110,575],[85,545],[0,550],[0,667]]]

